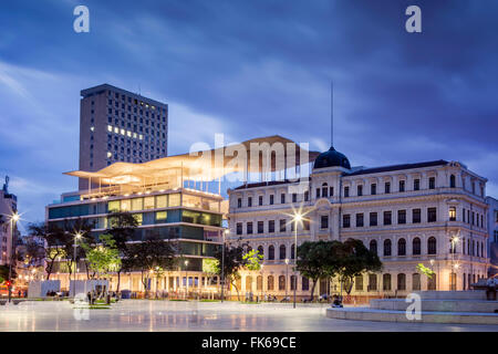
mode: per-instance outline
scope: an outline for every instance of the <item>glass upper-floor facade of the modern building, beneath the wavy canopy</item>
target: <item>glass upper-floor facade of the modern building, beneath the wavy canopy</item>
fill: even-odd
[[[220,247],[217,243],[205,242],[218,232],[205,230],[205,226],[222,226],[221,215],[218,214],[219,201],[206,196],[174,192],[106,201],[87,200],[87,202],[71,206],[50,206],[48,221],[70,230],[74,228],[76,222],[84,220],[92,226],[92,236],[97,238],[110,227],[110,214],[112,212],[129,212],[137,220],[139,227],[134,230],[131,241],[142,241],[152,236],[173,241],[175,239],[193,240],[175,242],[178,247],[178,254],[187,257],[214,257],[215,251]],[[168,225],[179,222],[189,225]],[[196,263],[189,260],[189,268],[197,270]],[[198,270],[200,270],[201,259],[198,263]]]

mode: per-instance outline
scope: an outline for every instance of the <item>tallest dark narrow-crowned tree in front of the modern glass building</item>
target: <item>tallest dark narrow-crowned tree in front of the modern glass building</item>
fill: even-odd
[[[126,253],[126,242],[133,240],[135,229],[138,227],[138,221],[129,212],[113,212],[108,216],[107,220],[110,227],[107,229],[107,233],[113,236],[121,257],[124,257],[124,254]],[[122,268],[117,270],[117,291],[120,291],[121,287],[122,270]]]

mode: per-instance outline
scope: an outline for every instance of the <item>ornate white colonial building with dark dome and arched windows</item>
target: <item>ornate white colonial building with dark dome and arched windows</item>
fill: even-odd
[[[263,253],[260,272],[242,273],[242,292],[292,296],[298,244],[360,239],[383,262],[378,273],[355,279],[352,294],[382,296],[417,290],[463,290],[487,275],[486,178],[456,162],[376,168],[351,167],[333,147],[314,160],[310,178],[246,184],[229,192],[229,240],[241,238]],[[432,268],[430,280],[417,272]],[[299,298],[310,281],[297,274]],[[322,280],[315,294],[340,291]]]

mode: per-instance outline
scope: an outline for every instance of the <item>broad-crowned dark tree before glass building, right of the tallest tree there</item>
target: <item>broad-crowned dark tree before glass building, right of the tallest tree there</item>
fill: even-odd
[[[173,270],[176,264],[176,247],[160,239],[159,236],[149,236],[144,241],[129,243],[123,258],[123,270],[139,271],[141,280],[145,289],[145,296],[148,294],[149,277],[156,267],[162,270]]]

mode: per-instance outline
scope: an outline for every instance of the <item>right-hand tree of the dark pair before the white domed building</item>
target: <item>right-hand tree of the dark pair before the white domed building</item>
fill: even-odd
[[[382,269],[377,253],[369,250],[361,240],[347,239],[343,243],[335,242],[332,253],[336,258],[335,269],[339,279],[342,284],[347,285],[347,294],[354,283],[354,277]]]

